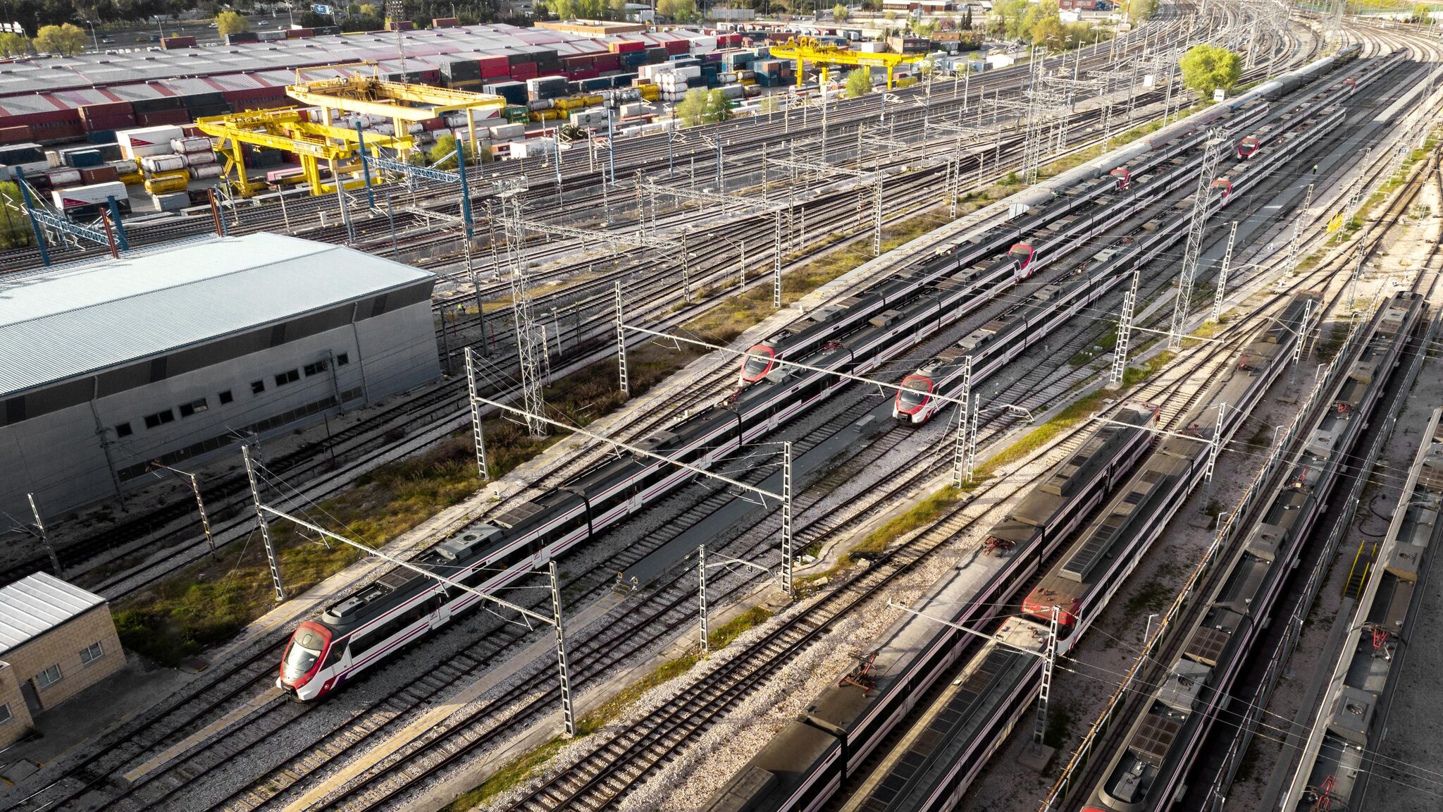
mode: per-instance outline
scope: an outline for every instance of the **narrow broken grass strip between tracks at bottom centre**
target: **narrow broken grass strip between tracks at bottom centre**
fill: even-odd
[[[707,644],[711,650],[722,649],[730,644],[733,640],[742,636],[743,631],[765,623],[772,617],[772,613],[762,607],[753,607],[740,616],[732,618],[720,629],[714,629],[707,634]],[[608,722],[616,720],[622,715],[626,708],[629,708],[636,699],[641,699],[644,694],[671,682],[672,679],[691,670],[691,666],[701,662],[700,655],[691,653],[674,660],[667,660],[652,669],[646,676],[642,676],[636,682],[623,688],[616,696],[612,696],[595,711],[576,720],[576,735],[577,738],[590,735],[597,730],[602,730]],[[567,744],[566,738],[553,738],[545,744],[531,750],[530,753],[521,756],[515,761],[511,761],[492,773],[489,779],[482,782],[481,786],[462,793],[456,800],[446,806],[447,812],[466,812],[468,809],[485,803],[486,800],[521,786],[527,782],[537,770],[544,767],[563,744]]]

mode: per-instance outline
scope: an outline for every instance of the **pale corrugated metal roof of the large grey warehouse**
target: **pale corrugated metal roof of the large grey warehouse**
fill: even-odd
[[[342,246],[264,233],[7,276],[0,397],[430,276]]]

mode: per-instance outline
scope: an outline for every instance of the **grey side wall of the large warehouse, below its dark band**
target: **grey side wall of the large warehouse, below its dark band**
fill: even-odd
[[[429,285],[427,285],[429,289]],[[345,360],[346,363],[338,363]],[[325,370],[307,364],[325,364]],[[277,374],[296,380],[277,383]],[[177,468],[240,451],[227,436],[260,436],[294,428],[297,420],[423,384],[440,374],[429,298],[224,360],[154,383],[92,397],[85,403],[0,426],[0,510],[30,514],[35,493],[42,514],[55,516],[114,498],[120,487],[144,484],[144,467],[163,458]],[[263,392],[253,392],[253,381]],[[228,392],[229,403],[221,403]],[[182,406],[199,406],[189,415]],[[146,418],[172,419],[147,428]],[[130,426],[130,433],[117,426]],[[104,442],[102,442],[104,441]],[[107,461],[107,449],[110,459]],[[113,470],[115,474],[113,474]]]

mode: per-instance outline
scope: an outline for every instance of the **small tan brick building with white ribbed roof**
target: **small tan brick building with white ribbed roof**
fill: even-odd
[[[0,588],[0,747],[124,666],[105,598],[45,572]]]

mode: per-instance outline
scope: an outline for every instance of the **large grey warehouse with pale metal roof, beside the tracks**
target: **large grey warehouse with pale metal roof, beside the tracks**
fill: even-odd
[[[0,282],[0,510],[115,497],[440,374],[434,277],[278,234]]]

